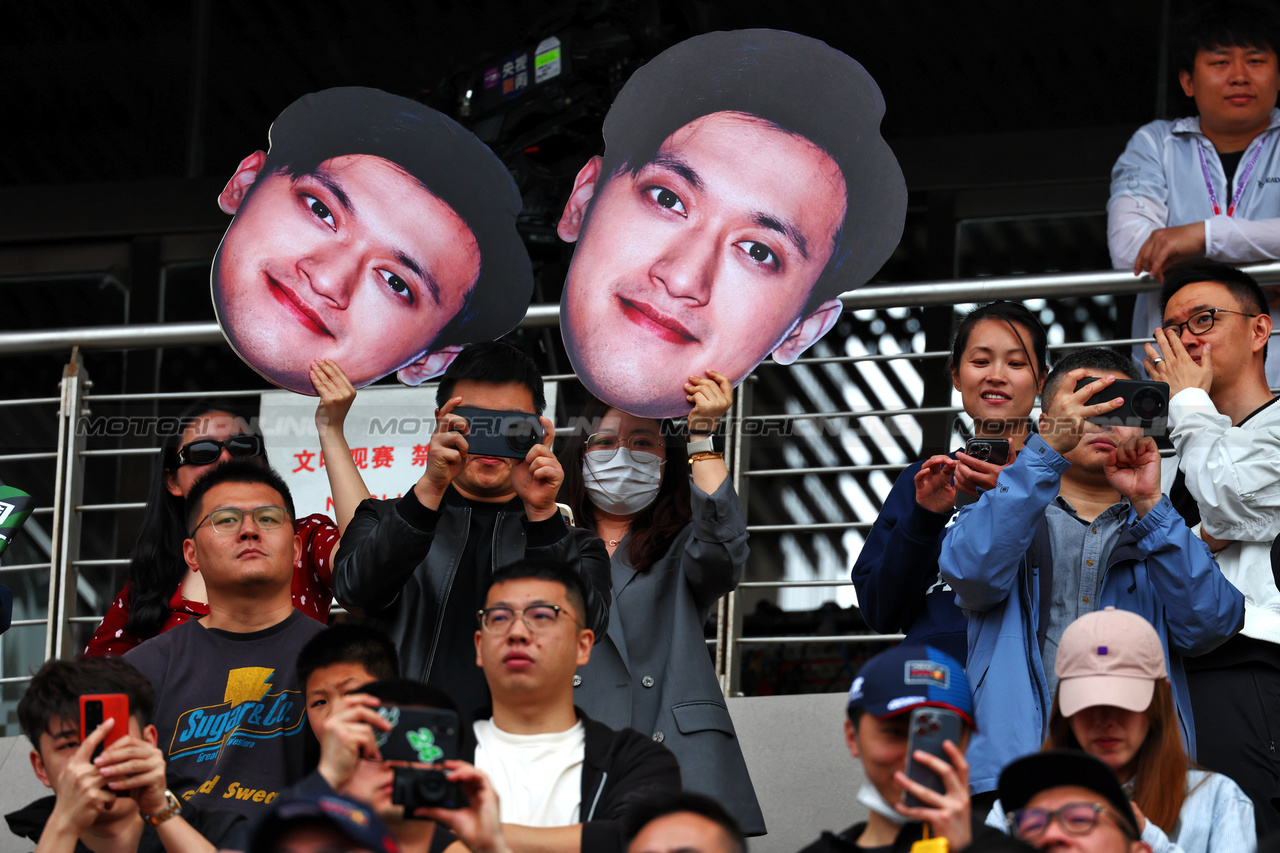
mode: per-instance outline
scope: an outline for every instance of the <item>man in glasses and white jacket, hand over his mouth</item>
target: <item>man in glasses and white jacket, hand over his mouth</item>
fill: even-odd
[[[1253,799],[1258,835],[1280,830],[1280,405],[1267,387],[1271,316],[1258,283],[1221,264],[1174,268],[1160,292],[1162,328],[1146,345],[1169,383],[1178,451],[1170,498],[1244,593],[1244,628],[1187,662],[1199,761]],[[1172,460],[1170,460],[1172,461]],[[1198,526],[1197,526],[1198,525]]]

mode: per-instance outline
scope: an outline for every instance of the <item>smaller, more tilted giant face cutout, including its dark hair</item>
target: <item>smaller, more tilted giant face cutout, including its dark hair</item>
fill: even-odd
[[[390,373],[419,384],[529,309],[506,167],[408,99],[330,88],[294,101],[219,205],[236,218],[214,257],[218,323],[282,388],[314,394],[321,357],[356,387]]]

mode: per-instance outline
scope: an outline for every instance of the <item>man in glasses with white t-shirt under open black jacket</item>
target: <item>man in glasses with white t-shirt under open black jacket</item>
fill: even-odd
[[[573,678],[595,634],[573,566],[499,570],[476,631],[493,695],[475,722],[475,765],[493,781],[512,850],[623,849],[622,816],[654,790],[680,789],[680,766],[646,735],[614,731],[573,707]]]

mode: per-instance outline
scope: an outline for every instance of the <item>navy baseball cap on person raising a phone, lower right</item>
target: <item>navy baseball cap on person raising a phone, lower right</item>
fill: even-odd
[[[881,720],[922,706],[946,708],[978,730],[964,667],[932,646],[895,646],[867,661],[849,688],[849,704]]]

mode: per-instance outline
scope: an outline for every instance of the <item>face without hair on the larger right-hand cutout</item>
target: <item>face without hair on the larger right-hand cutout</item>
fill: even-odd
[[[613,175],[593,159],[559,223],[577,242],[561,329],[579,377],[667,418],[689,411],[689,377],[736,386],[771,353],[794,361],[840,314],[838,300],[805,309],[846,204],[824,150],[746,113],[695,119]]]

